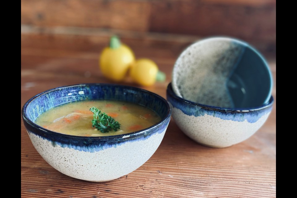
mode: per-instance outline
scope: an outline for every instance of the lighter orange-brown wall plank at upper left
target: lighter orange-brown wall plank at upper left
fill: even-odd
[[[146,31],[150,4],[145,1],[23,0],[21,23]]]

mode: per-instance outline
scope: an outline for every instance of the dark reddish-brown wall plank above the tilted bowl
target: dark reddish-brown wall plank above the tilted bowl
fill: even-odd
[[[275,5],[252,6],[221,2],[195,0],[154,2],[150,31],[200,36],[225,35],[243,40],[254,38],[275,41]]]

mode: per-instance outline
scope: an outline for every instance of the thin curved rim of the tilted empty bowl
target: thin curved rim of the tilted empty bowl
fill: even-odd
[[[241,40],[241,39],[238,39],[238,38],[235,38],[235,37],[227,37],[227,36],[212,36],[212,37],[206,37],[206,38],[202,38],[200,40],[197,40],[197,41],[194,41],[192,44],[188,45],[185,49],[183,49],[183,51],[179,54],[178,58],[176,59],[176,61],[174,62],[174,66],[172,68],[172,81],[174,81],[174,70],[176,70],[177,68],[177,63],[180,62],[180,60],[183,58],[183,56],[185,54],[187,54],[187,50],[189,48],[191,48],[192,46],[195,46],[195,45],[200,45],[201,43],[205,43],[205,42],[209,42],[209,41],[226,41],[226,42],[229,42],[229,41],[232,41],[232,42],[236,42],[236,43],[239,43],[240,45],[243,45],[245,47],[248,47],[250,48],[258,57],[260,57],[260,59],[263,61],[264,65],[265,65],[265,69],[269,75],[269,94],[267,95],[267,97],[265,98],[265,101],[264,103],[270,103],[270,100],[271,100],[271,97],[269,97],[269,95],[271,96],[272,95],[272,90],[273,90],[273,76],[272,76],[272,72],[269,68],[269,64],[267,62],[267,60],[264,58],[264,56],[255,48],[253,47],[251,44]],[[172,82],[171,82],[172,83]],[[178,90],[179,91],[179,90]],[[181,95],[180,91],[179,91],[179,94]]]

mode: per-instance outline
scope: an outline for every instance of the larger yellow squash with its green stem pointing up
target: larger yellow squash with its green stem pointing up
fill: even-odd
[[[99,57],[99,67],[106,78],[121,81],[134,61],[133,51],[113,36],[110,38],[110,46],[105,47]]]

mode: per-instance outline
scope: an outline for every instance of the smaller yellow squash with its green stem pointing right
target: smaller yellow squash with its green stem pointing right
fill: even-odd
[[[134,82],[143,86],[151,86],[156,81],[166,79],[166,75],[159,71],[156,63],[146,58],[133,62],[129,74]]]

